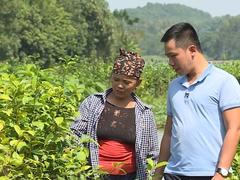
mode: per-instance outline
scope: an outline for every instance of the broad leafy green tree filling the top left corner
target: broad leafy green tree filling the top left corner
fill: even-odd
[[[0,58],[35,56],[45,67],[75,43],[70,14],[54,0],[0,0]],[[6,44],[8,46],[6,46]]]

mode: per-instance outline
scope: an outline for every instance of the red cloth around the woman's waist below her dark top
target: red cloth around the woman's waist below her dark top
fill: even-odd
[[[136,171],[135,147],[114,140],[99,140],[99,164],[103,171],[124,175]]]

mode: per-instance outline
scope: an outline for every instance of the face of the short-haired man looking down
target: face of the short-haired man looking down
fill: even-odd
[[[168,64],[180,75],[190,72],[192,59],[188,48],[176,47],[174,39],[165,43],[165,55],[168,57]]]

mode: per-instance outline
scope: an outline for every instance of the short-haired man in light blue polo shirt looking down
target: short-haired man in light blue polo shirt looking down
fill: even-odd
[[[224,179],[240,139],[239,83],[207,62],[189,23],[173,25],[161,42],[169,65],[181,75],[168,90],[159,159],[168,161],[164,179]]]

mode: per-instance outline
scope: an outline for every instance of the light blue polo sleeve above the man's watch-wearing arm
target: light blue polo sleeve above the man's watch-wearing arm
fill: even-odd
[[[222,83],[219,94],[219,107],[222,112],[240,107],[240,85],[232,75],[229,75]]]

